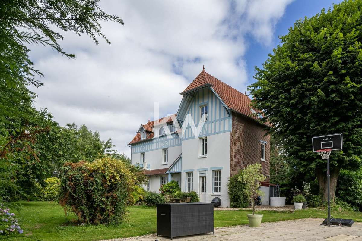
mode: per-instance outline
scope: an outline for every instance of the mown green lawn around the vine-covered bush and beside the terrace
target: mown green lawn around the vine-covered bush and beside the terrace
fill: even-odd
[[[24,228],[24,233],[44,241],[93,241],[119,237],[133,237],[156,233],[156,208],[133,206],[129,208],[128,220],[119,226],[112,225],[76,225],[76,216],[65,216],[63,208],[54,202],[21,202],[24,209],[15,212]],[[250,211],[215,211],[215,227],[247,224]],[[295,213],[260,211],[263,222],[301,218],[325,218],[326,210],[308,208]],[[336,218],[352,218],[362,221],[361,212],[332,213]]]

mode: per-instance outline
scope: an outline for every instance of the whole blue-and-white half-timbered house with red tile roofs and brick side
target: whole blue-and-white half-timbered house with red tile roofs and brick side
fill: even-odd
[[[182,191],[196,191],[200,202],[219,197],[229,207],[229,178],[256,162],[269,186],[270,136],[251,99],[204,68],[181,95],[176,115],[141,125],[129,143],[132,164],[149,176],[144,189],[159,192],[175,180]]]

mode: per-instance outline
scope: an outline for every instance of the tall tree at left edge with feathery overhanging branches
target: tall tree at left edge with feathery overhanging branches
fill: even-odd
[[[97,36],[107,43],[109,40],[101,31],[100,21],[123,21],[105,13],[98,5],[99,0],[3,0],[0,1],[0,193],[14,185],[16,173],[24,169],[24,162],[37,160],[34,149],[36,137],[47,128],[41,127],[48,120],[36,111],[32,101],[36,97],[28,86],[43,86],[35,76],[43,73],[34,68],[29,59],[29,46],[42,44],[69,58],[75,55],[66,53],[58,43],[64,36],[54,29],[71,31],[77,35],[87,34],[98,44]],[[51,126],[53,124],[49,123]],[[54,127],[54,126],[53,126]],[[40,154],[42,155],[42,154]],[[23,163],[23,164],[17,164]],[[29,163],[29,162],[28,162]],[[43,165],[44,164],[44,165]],[[47,163],[39,164],[42,168]],[[34,171],[34,170],[33,170]],[[37,169],[38,173],[43,169]],[[33,175],[30,170],[27,174]],[[1,195],[0,202],[6,200]]]

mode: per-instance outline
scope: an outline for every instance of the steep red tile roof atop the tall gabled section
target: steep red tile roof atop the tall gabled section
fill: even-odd
[[[193,90],[198,90],[204,86],[211,86],[216,93],[220,96],[223,102],[233,111],[249,116],[252,119],[258,120],[259,118],[253,115],[251,111],[251,99],[227,85],[226,83],[215,78],[211,74],[205,72],[205,68],[202,68],[201,73],[190,83],[188,87],[181,93],[184,95]],[[259,112],[255,110],[256,112]]]

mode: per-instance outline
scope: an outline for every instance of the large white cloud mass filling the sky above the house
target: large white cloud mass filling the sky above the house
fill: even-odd
[[[35,90],[37,107],[48,107],[61,125],[86,124],[117,149],[126,146],[140,124],[174,113],[179,95],[202,70],[245,90],[245,34],[271,41],[274,26],[289,0],[273,1],[102,1],[101,7],[125,21],[105,22],[112,42],[96,46],[88,36],[66,33],[61,45],[75,53],[69,60],[48,48],[32,46],[35,66],[46,73]]]

